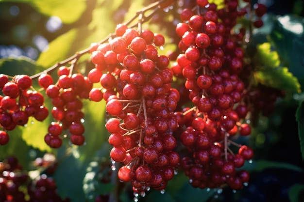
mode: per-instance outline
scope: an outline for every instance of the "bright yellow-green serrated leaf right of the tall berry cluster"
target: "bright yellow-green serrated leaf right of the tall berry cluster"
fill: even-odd
[[[257,82],[290,93],[301,92],[298,78],[294,77],[287,67],[280,66],[279,55],[276,51],[271,51],[270,43],[257,46],[256,61],[258,68],[254,72],[254,78]]]

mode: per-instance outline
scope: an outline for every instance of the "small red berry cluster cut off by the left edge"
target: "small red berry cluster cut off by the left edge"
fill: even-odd
[[[0,145],[9,141],[6,131],[13,130],[17,125],[26,125],[29,117],[43,121],[49,115],[44,106],[41,93],[32,90],[32,79],[27,75],[17,75],[9,80],[7,75],[0,75]]]

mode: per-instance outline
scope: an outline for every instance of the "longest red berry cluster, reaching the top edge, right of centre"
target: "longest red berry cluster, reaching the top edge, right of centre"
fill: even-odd
[[[216,188],[228,184],[239,189],[249,173],[236,170],[253,158],[253,150],[237,145],[237,154],[229,148],[231,137],[248,136],[251,127],[244,122],[248,108],[244,102],[245,85],[239,75],[244,65],[241,47],[243,29],[232,33],[236,19],[245,13],[237,9],[237,0],[225,1],[223,9],[214,3],[197,0],[195,10],[185,8],[176,26],[182,37],[172,70],[186,78],[185,87],[194,108],[183,109],[179,125],[180,140],[187,147],[181,168],[194,187]]]

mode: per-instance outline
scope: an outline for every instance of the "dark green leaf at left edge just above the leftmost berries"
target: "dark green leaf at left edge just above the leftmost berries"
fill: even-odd
[[[44,69],[32,59],[20,56],[0,59],[0,73],[14,77],[15,75],[34,75]]]

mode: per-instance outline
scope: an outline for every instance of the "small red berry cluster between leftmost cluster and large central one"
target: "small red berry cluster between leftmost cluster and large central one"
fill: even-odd
[[[51,98],[53,108],[51,115],[56,122],[52,122],[45,135],[45,142],[52,148],[62,145],[60,135],[68,129],[69,139],[72,144],[84,144],[84,114],[82,99],[89,97],[93,87],[92,82],[82,74],[70,74],[70,68],[62,66],[57,71],[58,81],[53,84],[53,78],[49,74],[42,74],[38,83],[45,89],[46,95]]]

